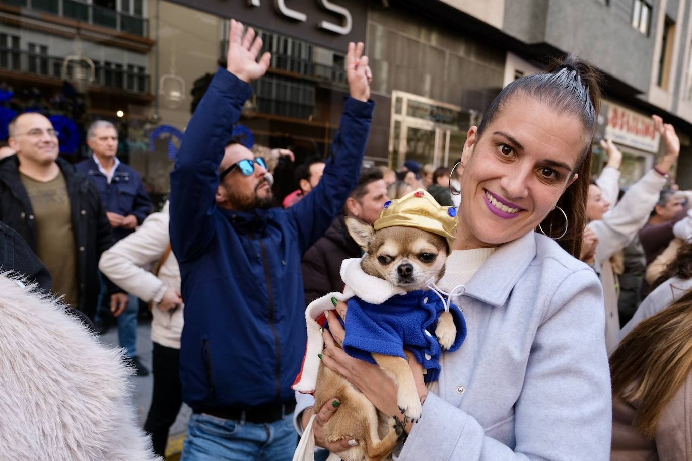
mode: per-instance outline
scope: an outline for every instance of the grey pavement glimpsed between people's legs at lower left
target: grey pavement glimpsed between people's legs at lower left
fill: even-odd
[[[104,335],[101,336],[102,341],[106,344],[118,346],[118,327],[111,327]],[[134,395],[132,397],[133,404],[137,408],[138,420],[140,426],[144,425],[147,419],[147,411],[149,411],[149,403],[152,401],[152,339],[149,323],[140,321],[137,329],[137,355],[144,366],[149,370],[149,376],[131,377],[134,384]],[[190,418],[190,407],[183,404],[176,422],[171,427],[168,436],[168,445],[166,449],[167,460],[179,459],[179,453],[183,449],[183,439],[185,432],[188,429],[188,419]]]

